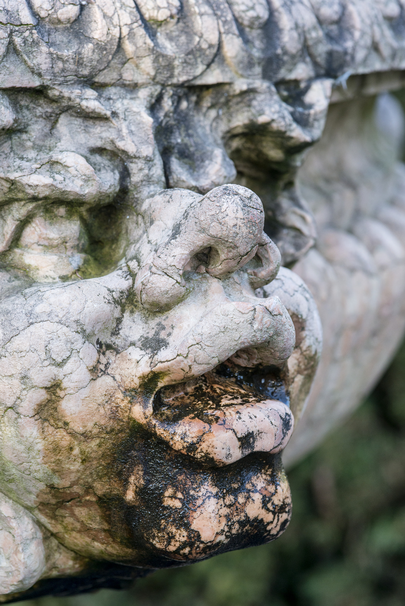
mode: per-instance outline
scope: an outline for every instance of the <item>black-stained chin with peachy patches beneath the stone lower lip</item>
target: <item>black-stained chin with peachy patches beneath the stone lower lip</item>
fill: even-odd
[[[277,538],[287,527],[291,510],[288,490],[283,493],[284,500],[274,499],[281,484],[287,482],[278,454],[249,454],[226,467],[211,468],[179,454],[138,427],[132,442],[123,444],[120,459],[128,480],[134,468],[141,470],[136,500],[131,505],[123,499],[122,511],[145,565],[172,567],[260,545]],[[258,476],[266,479],[264,488],[254,485]],[[261,510],[271,513],[270,524],[260,519],[260,511],[256,517],[245,514],[240,495],[257,492]],[[226,520],[217,540],[202,539],[192,527],[192,519],[200,507],[212,507],[213,499],[232,505],[222,510]]]

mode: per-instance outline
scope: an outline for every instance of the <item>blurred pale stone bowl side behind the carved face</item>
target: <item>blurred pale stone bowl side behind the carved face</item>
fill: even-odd
[[[287,464],[350,414],[403,338],[405,173],[396,161],[403,128],[401,107],[389,95],[376,104],[332,105],[324,136],[301,170],[319,239],[294,271],[318,304],[324,350],[284,453]]]

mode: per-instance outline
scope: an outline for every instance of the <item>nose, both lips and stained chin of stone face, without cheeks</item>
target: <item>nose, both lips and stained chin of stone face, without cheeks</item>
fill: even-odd
[[[144,561],[166,567],[268,542],[285,530],[291,500],[279,452],[293,416],[274,391],[264,396],[240,377],[256,371],[268,386],[273,373],[288,387],[295,331],[278,296],[254,292],[279,270],[256,196],[226,186],[188,201],[184,190],[157,198],[152,221],[148,204],[145,211],[150,231],[158,222],[165,231],[159,239],[146,235],[153,247],[144,261],[138,256],[135,291],[140,305],[158,314],[159,334],[177,347],[148,360],[156,380],[151,388],[145,373],[149,382],[134,393],[137,423],[123,447],[121,507]],[[245,238],[235,242],[235,231]]]

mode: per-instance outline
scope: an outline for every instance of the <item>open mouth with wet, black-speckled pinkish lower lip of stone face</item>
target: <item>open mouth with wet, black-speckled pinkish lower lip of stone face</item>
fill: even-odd
[[[220,467],[287,445],[294,419],[284,373],[226,361],[196,379],[161,388],[149,423],[172,448]]]

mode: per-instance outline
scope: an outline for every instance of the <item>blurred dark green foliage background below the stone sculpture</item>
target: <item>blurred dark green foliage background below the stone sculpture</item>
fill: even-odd
[[[403,606],[405,344],[346,424],[288,473],[274,543],[159,571],[129,591],[21,606]]]

